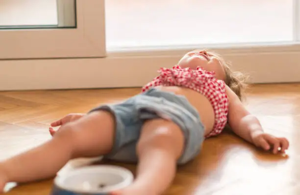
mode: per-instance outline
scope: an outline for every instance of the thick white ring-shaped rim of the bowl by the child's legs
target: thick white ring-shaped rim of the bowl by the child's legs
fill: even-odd
[[[80,190],[78,188],[70,188],[64,186],[64,181],[72,176],[80,175],[80,173],[115,173],[119,174],[124,178],[124,181],[121,183],[118,183],[116,185],[113,185],[111,187],[105,188],[104,190],[97,189],[97,190]],[[70,191],[74,193],[81,193],[81,194],[97,194],[97,193],[109,193],[114,190],[120,190],[122,188],[125,188],[126,186],[130,185],[133,182],[133,174],[128,169],[125,169],[124,167],[120,166],[114,166],[114,165],[90,165],[90,166],[84,166],[80,168],[76,168],[68,173],[64,173],[62,175],[58,175],[54,179],[54,185],[59,188],[60,190]]]

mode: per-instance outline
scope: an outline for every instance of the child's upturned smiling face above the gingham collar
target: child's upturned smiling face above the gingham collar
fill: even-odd
[[[214,71],[217,79],[225,80],[225,70],[221,61],[217,56],[205,50],[188,52],[180,59],[178,65],[182,68],[190,67],[192,69],[200,66],[206,71]]]

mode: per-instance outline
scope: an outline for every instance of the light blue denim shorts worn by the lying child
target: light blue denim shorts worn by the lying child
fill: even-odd
[[[184,151],[177,164],[194,159],[201,150],[204,126],[198,111],[182,95],[156,88],[135,95],[124,102],[102,105],[95,110],[106,110],[115,116],[116,133],[112,151],[104,158],[122,162],[136,162],[136,144],[145,120],[163,118],[173,121],[185,138]]]

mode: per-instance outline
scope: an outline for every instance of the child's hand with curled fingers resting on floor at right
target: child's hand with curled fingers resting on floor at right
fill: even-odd
[[[289,141],[286,138],[275,137],[263,132],[254,133],[252,141],[255,146],[261,147],[266,151],[272,149],[274,154],[278,152],[279,147],[281,152],[285,152],[289,148]]]

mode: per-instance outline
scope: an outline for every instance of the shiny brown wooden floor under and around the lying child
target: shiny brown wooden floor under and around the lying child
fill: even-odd
[[[0,92],[0,160],[50,139],[49,123],[70,112],[116,102],[139,89]],[[300,84],[251,87],[247,107],[267,132],[286,136],[287,155],[255,149],[230,132],[204,142],[203,152],[179,168],[165,195],[299,195]],[[32,159],[34,160],[34,159]],[[62,170],[86,161],[70,162]],[[104,162],[112,163],[112,162]],[[114,163],[116,164],[116,163]],[[134,173],[134,165],[118,164]],[[8,185],[8,195],[48,195],[52,180]]]

